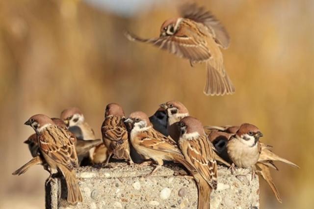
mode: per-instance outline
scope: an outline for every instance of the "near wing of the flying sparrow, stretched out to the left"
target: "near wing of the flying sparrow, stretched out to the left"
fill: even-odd
[[[184,35],[180,30],[172,36],[160,36],[150,39],[143,39],[129,32],[126,32],[125,35],[131,41],[150,43],[159,49],[167,50],[170,53],[194,62],[210,58],[209,49],[204,40],[197,40],[192,36]]]

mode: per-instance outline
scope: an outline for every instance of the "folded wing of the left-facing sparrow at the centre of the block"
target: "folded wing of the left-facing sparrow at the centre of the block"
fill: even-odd
[[[156,130],[143,131],[142,133],[138,134],[138,138],[140,139],[140,146],[153,150],[182,155],[175,141],[173,141],[170,137],[162,135]]]

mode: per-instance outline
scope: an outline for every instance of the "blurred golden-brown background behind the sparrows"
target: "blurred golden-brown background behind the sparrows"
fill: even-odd
[[[301,169],[278,164],[272,175],[279,204],[261,180],[261,208],[308,209],[314,204],[314,1],[198,0],[231,36],[223,51],[236,92],[203,94],[205,66],[141,43],[128,29],[154,37],[177,15],[180,0],[0,1],[0,208],[44,208],[49,174],[30,159],[24,122],[57,117],[78,106],[98,137],[105,105],[152,115],[158,104],[181,101],[204,125],[255,124],[262,142]]]

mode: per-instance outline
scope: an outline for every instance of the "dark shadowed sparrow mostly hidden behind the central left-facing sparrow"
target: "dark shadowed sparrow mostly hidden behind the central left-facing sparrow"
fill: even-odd
[[[168,117],[166,110],[159,107],[154,115],[149,117],[149,121],[153,124],[153,128],[165,136],[168,136],[167,123]]]

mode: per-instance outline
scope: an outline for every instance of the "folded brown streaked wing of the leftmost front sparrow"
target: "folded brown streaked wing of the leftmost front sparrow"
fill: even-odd
[[[75,149],[76,138],[70,131],[48,127],[38,135],[40,150],[57,164],[62,164],[72,170],[78,166],[78,156]]]

